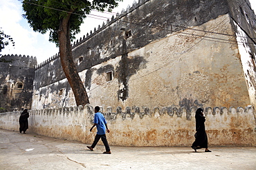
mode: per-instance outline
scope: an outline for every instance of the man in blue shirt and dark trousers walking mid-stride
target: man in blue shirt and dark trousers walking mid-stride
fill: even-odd
[[[106,137],[106,129],[107,129],[107,133],[109,133],[109,128],[107,127],[107,121],[105,120],[104,116],[102,113],[99,112],[100,111],[100,107],[96,106],[94,108],[94,124],[93,127],[97,127],[97,134],[95,136],[93,145],[91,145],[91,147],[87,146],[91,151],[93,151],[93,148],[97,145],[98,141],[102,140],[106,151],[104,151],[103,153],[107,153],[107,154],[111,154],[110,148],[109,148],[109,144],[107,142],[107,137]],[[93,127],[91,127],[90,131],[93,130]]]

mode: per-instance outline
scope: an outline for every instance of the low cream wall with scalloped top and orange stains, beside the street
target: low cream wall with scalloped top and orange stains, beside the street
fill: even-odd
[[[103,108],[102,108],[103,109]],[[196,107],[105,108],[110,145],[187,146],[194,141]],[[19,112],[0,114],[0,128],[18,131]],[[252,107],[205,108],[210,146],[256,146],[255,111]],[[92,143],[96,129],[93,107],[63,107],[30,111],[29,129],[37,134]]]

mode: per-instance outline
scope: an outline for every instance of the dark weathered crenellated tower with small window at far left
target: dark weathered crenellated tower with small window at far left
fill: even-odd
[[[0,112],[31,108],[37,59],[4,55],[0,62]]]

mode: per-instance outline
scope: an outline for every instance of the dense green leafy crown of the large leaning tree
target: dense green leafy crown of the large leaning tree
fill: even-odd
[[[26,13],[23,17],[28,20],[35,32],[45,34],[50,31],[49,41],[59,45],[57,32],[61,19],[71,14],[69,24],[70,37],[73,40],[75,34],[80,32],[80,25],[86,14],[90,14],[91,10],[111,11],[118,6],[117,1],[122,0],[24,0],[23,9]]]

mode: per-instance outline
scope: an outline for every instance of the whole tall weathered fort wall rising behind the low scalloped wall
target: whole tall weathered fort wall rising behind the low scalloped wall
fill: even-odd
[[[244,41],[247,51],[241,52],[237,40],[255,25],[239,33],[234,8],[237,3],[223,0],[140,1],[84,36],[74,43],[73,56],[90,103],[254,107],[255,59],[247,61],[255,47]],[[255,17],[244,9],[248,19]],[[236,19],[244,24],[245,18]],[[33,109],[75,105],[57,54],[35,75]]]

